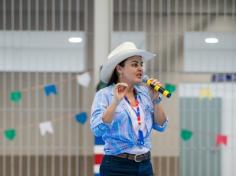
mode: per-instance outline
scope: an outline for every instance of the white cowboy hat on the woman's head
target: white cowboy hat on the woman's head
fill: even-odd
[[[145,50],[137,49],[134,43],[124,42],[117,46],[108,56],[107,62],[103,64],[100,78],[104,83],[108,83],[117,64],[131,56],[142,56],[146,62],[156,56]]]

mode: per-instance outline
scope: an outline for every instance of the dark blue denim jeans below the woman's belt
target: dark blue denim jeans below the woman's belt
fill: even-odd
[[[135,162],[127,158],[105,155],[100,166],[101,176],[153,176],[150,160]]]

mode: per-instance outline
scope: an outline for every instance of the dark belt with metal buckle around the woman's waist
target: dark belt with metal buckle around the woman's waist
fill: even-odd
[[[135,162],[141,162],[144,160],[149,160],[151,158],[151,152],[147,152],[144,154],[129,154],[129,153],[121,153],[116,155],[117,157],[120,158],[128,158],[129,160],[133,160]]]

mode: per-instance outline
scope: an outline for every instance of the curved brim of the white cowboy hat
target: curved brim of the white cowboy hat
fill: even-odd
[[[141,49],[135,49],[135,50],[130,50],[129,52],[123,52],[116,54],[112,56],[107,63],[105,63],[102,66],[101,72],[100,72],[100,78],[101,81],[104,83],[108,83],[111,75],[116,67],[117,64],[122,62],[123,60],[131,57],[131,56],[142,56],[143,61],[146,62],[156,56],[156,54],[153,54],[151,52],[141,50]]]

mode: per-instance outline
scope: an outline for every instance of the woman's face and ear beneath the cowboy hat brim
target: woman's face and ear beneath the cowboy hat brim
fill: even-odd
[[[124,67],[118,65],[119,81],[127,84],[136,84],[142,81],[143,76],[143,59],[141,56],[129,57]]]

